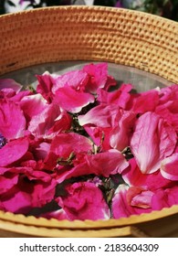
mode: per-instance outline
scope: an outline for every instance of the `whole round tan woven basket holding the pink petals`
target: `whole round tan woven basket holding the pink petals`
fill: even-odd
[[[0,16],[0,75],[64,60],[131,66],[178,83],[178,25],[159,16],[89,6]],[[124,219],[36,219],[0,211],[4,237],[178,237],[178,206]]]

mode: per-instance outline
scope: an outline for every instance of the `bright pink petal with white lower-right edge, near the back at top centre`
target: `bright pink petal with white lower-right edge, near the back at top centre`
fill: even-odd
[[[94,102],[95,98],[90,93],[76,91],[66,85],[56,91],[54,101],[58,103],[63,110],[77,113],[89,103]]]

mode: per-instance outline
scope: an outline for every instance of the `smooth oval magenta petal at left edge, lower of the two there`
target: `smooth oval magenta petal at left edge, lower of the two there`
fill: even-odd
[[[4,167],[19,160],[26,154],[28,145],[27,138],[19,138],[5,144],[5,146],[0,149],[0,166]]]

